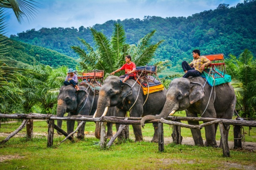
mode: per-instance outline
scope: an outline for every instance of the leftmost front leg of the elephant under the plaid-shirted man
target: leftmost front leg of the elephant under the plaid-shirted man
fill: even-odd
[[[186,110],[186,116],[187,117],[198,117],[197,114],[190,113],[187,110]],[[199,122],[188,121],[188,124],[189,125],[199,125]],[[201,135],[201,130],[198,130],[198,129],[190,129],[190,130],[191,130],[195,145],[204,146],[203,138],[202,138],[202,135]]]

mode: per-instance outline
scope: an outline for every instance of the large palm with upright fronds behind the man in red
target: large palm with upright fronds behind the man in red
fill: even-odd
[[[72,49],[79,54],[82,62],[80,65],[84,70],[104,70],[105,73],[111,73],[120,68],[125,63],[125,56],[131,55],[132,61],[137,65],[146,65],[154,57],[154,52],[163,40],[156,44],[150,44],[151,37],[155,31],[152,31],[140,39],[135,45],[125,43],[125,31],[121,24],[114,24],[114,31],[109,40],[103,33],[90,27],[95,42],[95,49],[83,39],[79,39],[86,50],[80,46],[72,46]],[[121,74],[121,73],[119,73]]]

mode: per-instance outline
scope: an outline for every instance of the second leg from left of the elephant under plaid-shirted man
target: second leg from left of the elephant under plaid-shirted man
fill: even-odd
[[[206,126],[204,127],[204,129],[205,129],[205,138],[206,138],[204,145],[217,147],[217,143],[215,140],[215,125]]]

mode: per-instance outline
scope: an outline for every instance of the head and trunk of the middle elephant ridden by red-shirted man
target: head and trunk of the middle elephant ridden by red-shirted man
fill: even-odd
[[[124,102],[125,97],[132,94],[131,85],[121,83],[120,78],[116,76],[109,76],[105,79],[99,91],[99,99],[95,117],[101,117],[108,111],[111,106],[117,106]],[[95,128],[96,138],[100,138],[99,122],[96,122]]]

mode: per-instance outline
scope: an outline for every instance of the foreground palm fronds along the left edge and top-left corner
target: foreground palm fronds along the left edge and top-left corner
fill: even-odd
[[[5,36],[7,26],[5,22],[6,8],[12,8],[18,22],[21,23],[23,21],[23,17],[26,17],[28,20],[30,20],[31,17],[35,15],[35,4],[36,2],[34,0],[0,0],[0,56],[8,53],[8,48],[5,48],[5,45],[7,43],[7,37]],[[26,69],[6,66],[3,61],[0,61],[0,100],[5,101],[1,102],[0,104],[1,112],[10,112],[10,109],[5,109],[8,108],[8,101],[12,101],[15,103],[16,97],[14,96],[17,96],[17,94],[15,94],[17,92],[15,82],[20,82],[19,77],[22,77],[22,72],[29,71]]]

